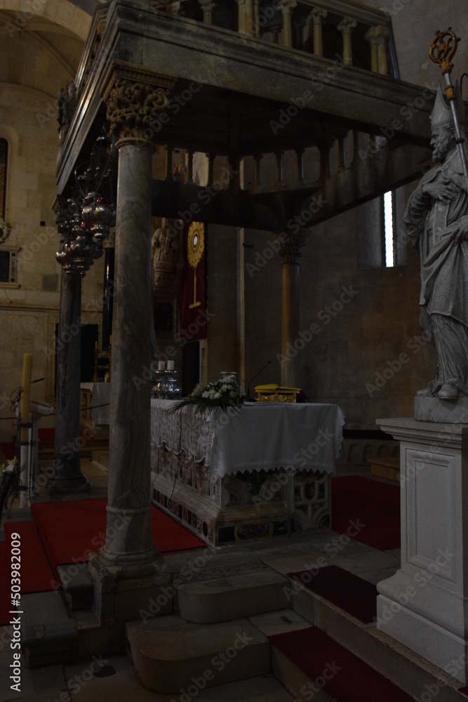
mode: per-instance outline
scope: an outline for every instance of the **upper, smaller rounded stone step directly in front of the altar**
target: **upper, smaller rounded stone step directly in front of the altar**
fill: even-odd
[[[178,588],[178,608],[187,621],[229,621],[286,609],[288,588],[288,578],[272,569],[185,583]]]

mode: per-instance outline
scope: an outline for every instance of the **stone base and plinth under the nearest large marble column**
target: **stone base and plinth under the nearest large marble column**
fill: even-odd
[[[153,548],[141,554],[112,555],[105,547],[89,557],[89,571],[94,581],[93,610],[103,622],[138,619],[140,611],[155,604],[159,614],[173,610],[171,571],[163,556]]]

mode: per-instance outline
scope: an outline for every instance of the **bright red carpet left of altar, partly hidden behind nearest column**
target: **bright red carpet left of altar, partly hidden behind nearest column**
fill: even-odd
[[[36,502],[34,521],[53,569],[88,560],[105,543],[107,498]],[[204,541],[152,505],[153,541],[162,553],[200,548]]]

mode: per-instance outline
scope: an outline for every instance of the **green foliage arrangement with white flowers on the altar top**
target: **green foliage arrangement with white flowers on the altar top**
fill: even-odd
[[[228,407],[241,406],[246,400],[246,393],[239,385],[236,373],[223,376],[214,383],[196,385],[193,392],[170,409],[169,413],[177,412],[182,407],[193,405],[195,414],[209,414],[217,409],[227,411]]]

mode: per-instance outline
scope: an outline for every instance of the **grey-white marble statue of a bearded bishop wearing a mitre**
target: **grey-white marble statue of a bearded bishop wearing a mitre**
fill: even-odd
[[[457,105],[464,125],[463,103]],[[421,256],[420,321],[438,357],[436,378],[417,395],[457,401],[468,396],[468,194],[453,117],[440,88],[431,123],[436,165],[422,177],[405,213]]]

